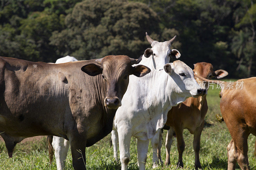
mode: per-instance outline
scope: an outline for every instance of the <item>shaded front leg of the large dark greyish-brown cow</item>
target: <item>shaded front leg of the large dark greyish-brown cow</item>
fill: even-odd
[[[84,139],[84,140],[76,140]],[[86,138],[76,136],[69,139],[71,154],[72,154],[72,164],[74,170],[86,169],[86,159],[85,159],[85,146]]]

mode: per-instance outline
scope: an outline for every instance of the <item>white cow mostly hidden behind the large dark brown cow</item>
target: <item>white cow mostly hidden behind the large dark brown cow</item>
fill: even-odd
[[[56,60],[55,64],[59,63],[68,63],[78,61],[75,57],[71,57],[67,55],[66,57],[62,57]],[[62,137],[53,137],[52,139],[52,147],[54,149],[54,155],[56,158],[56,166],[58,170],[63,170],[65,167],[64,160],[67,158],[68,149],[69,149],[69,141]]]

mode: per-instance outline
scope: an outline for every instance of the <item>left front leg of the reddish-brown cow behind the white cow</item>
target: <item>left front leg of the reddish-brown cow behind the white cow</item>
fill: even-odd
[[[183,139],[183,129],[180,129],[180,127],[174,127],[176,138],[177,138],[177,148],[179,152],[179,160],[177,162],[177,167],[183,167],[183,161],[182,161],[182,154],[185,150],[185,142]]]

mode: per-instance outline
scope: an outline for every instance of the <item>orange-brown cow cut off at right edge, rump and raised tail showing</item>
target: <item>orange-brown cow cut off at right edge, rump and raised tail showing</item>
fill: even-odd
[[[227,147],[228,170],[235,169],[236,161],[241,169],[250,169],[247,138],[250,134],[256,136],[256,77],[240,79],[232,84],[216,80],[213,83],[223,85],[220,111],[232,137]]]

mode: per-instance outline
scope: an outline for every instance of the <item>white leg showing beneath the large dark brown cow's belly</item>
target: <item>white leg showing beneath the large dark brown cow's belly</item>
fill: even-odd
[[[63,137],[53,137],[52,139],[53,148],[55,151],[56,165],[58,170],[65,168],[64,160],[67,158],[69,141]]]

